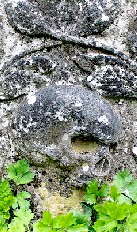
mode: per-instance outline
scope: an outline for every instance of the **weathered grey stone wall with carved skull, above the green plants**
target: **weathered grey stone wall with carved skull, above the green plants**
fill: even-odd
[[[41,182],[68,196],[124,168],[137,177],[136,9],[135,0],[0,1],[1,175],[25,157],[36,200]]]

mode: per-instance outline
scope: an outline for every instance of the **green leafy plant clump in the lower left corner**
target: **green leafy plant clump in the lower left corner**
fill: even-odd
[[[10,164],[7,168],[8,179],[0,183],[0,231],[25,232],[29,231],[29,223],[34,214],[30,210],[30,193],[26,191],[14,194],[17,186],[32,181],[34,174],[25,160]],[[14,181],[15,189],[11,188],[10,180]]]

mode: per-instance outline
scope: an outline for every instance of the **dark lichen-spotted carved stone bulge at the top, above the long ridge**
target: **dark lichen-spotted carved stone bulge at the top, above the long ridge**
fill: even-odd
[[[5,9],[11,25],[28,35],[87,36],[109,27],[120,1],[11,1]]]

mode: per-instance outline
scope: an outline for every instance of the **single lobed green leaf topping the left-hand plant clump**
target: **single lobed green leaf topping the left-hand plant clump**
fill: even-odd
[[[19,160],[15,164],[10,164],[7,168],[8,178],[13,180],[16,185],[27,184],[33,180],[34,173],[30,171],[26,160]]]

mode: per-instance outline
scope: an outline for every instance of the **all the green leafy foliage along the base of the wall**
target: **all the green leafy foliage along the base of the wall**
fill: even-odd
[[[7,168],[7,179],[0,182],[1,232],[135,232],[137,231],[137,179],[128,170],[115,175],[112,183],[89,182],[83,212],[68,212],[53,217],[43,212],[34,220],[31,195],[18,186],[34,178],[26,160]],[[14,186],[12,188],[11,186]],[[32,222],[33,221],[33,222]]]

